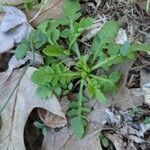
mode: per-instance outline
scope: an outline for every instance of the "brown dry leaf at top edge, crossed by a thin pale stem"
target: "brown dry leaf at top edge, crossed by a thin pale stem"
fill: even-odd
[[[44,3],[45,0],[41,1],[41,5]],[[31,23],[33,26],[37,26],[39,23],[41,23],[44,20],[47,19],[56,19],[62,16],[62,6],[63,6],[64,0],[48,0],[47,3],[44,5],[40,15],[38,15]],[[48,11],[46,11],[48,10]],[[39,12],[39,9],[33,9],[31,11],[27,11],[26,14],[30,19],[34,18],[37,13]]]

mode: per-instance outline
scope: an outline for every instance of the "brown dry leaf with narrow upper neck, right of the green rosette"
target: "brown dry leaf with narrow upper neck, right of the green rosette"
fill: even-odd
[[[124,64],[120,65],[120,72],[122,74],[122,79],[119,83],[119,89],[112,96],[110,99],[112,99],[112,104],[115,107],[119,107],[122,110],[129,109],[133,106],[139,106],[143,103],[143,95],[139,93],[138,90],[129,90],[126,87],[126,81],[128,77],[129,69],[131,68],[133,62],[127,61]]]

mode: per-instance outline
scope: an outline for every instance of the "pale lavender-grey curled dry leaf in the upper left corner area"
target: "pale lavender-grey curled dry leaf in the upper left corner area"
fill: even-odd
[[[4,53],[20,43],[31,33],[25,14],[12,6],[3,6],[5,16],[0,25],[0,53]],[[7,39],[7,40],[6,40]]]

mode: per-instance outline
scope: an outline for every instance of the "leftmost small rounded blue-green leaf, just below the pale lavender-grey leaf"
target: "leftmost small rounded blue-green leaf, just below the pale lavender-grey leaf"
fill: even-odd
[[[29,50],[28,46],[24,43],[21,43],[17,46],[15,50],[15,56],[17,60],[22,59],[27,54],[27,51]]]

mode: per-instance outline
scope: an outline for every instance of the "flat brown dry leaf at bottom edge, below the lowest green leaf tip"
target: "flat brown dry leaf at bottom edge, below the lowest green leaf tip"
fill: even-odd
[[[77,140],[70,129],[64,128],[57,133],[50,131],[44,138],[42,150],[102,150],[98,137],[99,131]]]

